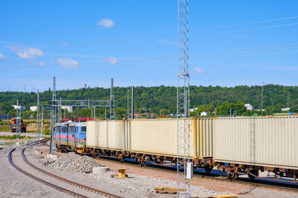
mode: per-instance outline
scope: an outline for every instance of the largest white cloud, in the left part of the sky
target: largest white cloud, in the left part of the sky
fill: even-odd
[[[19,44],[16,46],[6,46],[8,48],[18,54],[20,58],[23,59],[37,59],[38,56],[43,56],[43,52],[38,48],[27,48],[26,46]]]

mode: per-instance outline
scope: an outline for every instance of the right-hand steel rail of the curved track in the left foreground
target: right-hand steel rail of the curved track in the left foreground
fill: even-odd
[[[28,165],[30,165],[31,167],[33,167],[34,169],[36,169],[37,171],[39,171],[39,172],[41,172],[41,173],[43,173],[43,174],[45,174],[45,175],[48,175],[48,176],[50,176],[50,177],[52,177],[52,178],[55,178],[55,179],[57,179],[57,180],[59,180],[59,181],[64,181],[64,182],[69,183],[69,184],[71,184],[71,185],[74,185],[74,186],[77,186],[77,187],[79,187],[79,188],[82,188],[82,189],[85,189],[85,190],[88,190],[88,191],[97,193],[97,194],[102,195],[102,196],[106,196],[106,197],[109,197],[109,198],[122,198],[122,197],[113,195],[113,194],[111,194],[111,193],[107,193],[107,192],[100,191],[100,190],[97,190],[97,189],[92,188],[92,187],[85,186],[85,185],[80,184],[80,183],[76,183],[75,181],[70,181],[70,180],[64,179],[64,178],[62,178],[62,177],[56,176],[56,175],[54,175],[54,174],[52,174],[52,173],[49,173],[49,172],[47,172],[47,171],[45,171],[45,170],[42,170],[41,168],[38,168],[37,166],[31,164],[31,163],[27,160],[27,158],[26,158],[26,156],[25,156],[25,154],[24,154],[24,150],[25,150],[25,149],[26,149],[26,148],[24,148],[24,149],[22,150],[22,152],[21,152],[22,157],[23,157],[23,160],[24,160]]]

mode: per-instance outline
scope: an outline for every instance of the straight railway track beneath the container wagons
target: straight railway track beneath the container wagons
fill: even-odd
[[[112,158],[100,157],[100,160],[110,161],[110,162],[114,162],[114,163],[120,163],[117,159],[112,159]],[[130,166],[138,166],[138,167],[148,168],[148,169],[153,169],[153,170],[159,170],[159,171],[164,171],[164,172],[176,172],[177,171],[176,168],[172,168],[172,167],[166,167],[166,166],[156,167],[156,166],[148,165],[148,164],[145,166],[140,166],[136,162],[130,162],[130,161],[125,161],[123,164],[130,165]],[[251,186],[256,186],[256,187],[298,192],[298,185],[291,184],[291,183],[281,183],[281,182],[263,181],[263,180],[251,180],[248,178],[238,178],[238,180],[230,180],[228,177],[224,177],[219,174],[204,173],[204,172],[197,172],[197,171],[194,171],[193,176],[198,177],[198,178],[210,179],[210,180],[235,182],[235,183],[241,183],[241,184],[251,185]]]

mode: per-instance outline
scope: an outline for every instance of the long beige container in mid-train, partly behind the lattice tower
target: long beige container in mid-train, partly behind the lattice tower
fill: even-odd
[[[195,158],[196,120],[190,119],[190,157]],[[132,152],[162,156],[177,156],[177,119],[130,120]]]

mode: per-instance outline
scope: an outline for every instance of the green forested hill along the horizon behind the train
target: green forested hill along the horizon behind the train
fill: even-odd
[[[115,87],[114,100],[116,107],[127,107],[127,91],[131,94],[130,87]],[[137,86],[134,89],[135,108],[151,109],[151,112],[159,112],[160,109],[167,109],[169,113],[176,112],[177,88],[174,86]],[[264,108],[268,106],[287,105],[287,93],[289,93],[289,106],[298,105],[298,86],[282,86],[267,84],[263,86]],[[39,93],[40,97],[52,98],[51,91]],[[81,88],[75,90],[60,90],[56,92],[57,99],[98,99],[109,100],[109,88]],[[16,104],[19,99],[21,105],[28,110],[30,106],[36,105],[37,93],[31,92],[0,92],[0,114],[11,110],[11,105]],[[131,95],[129,96],[131,101]],[[44,99],[48,100],[49,99]],[[190,86],[190,108],[198,105],[219,106],[224,101],[236,103],[242,100],[244,103],[251,103],[255,109],[261,108],[261,86]],[[297,108],[297,107],[296,107]],[[2,111],[2,112],[1,112]]]

